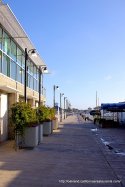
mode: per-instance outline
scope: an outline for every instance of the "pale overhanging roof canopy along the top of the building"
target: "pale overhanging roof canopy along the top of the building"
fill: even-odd
[[[27,50],[35,48],[10,7],[2,2],[0,3],[0,24],[23,50],[25,50],[25,48],[27,48]],[[39,54],[35,59],[33,57],[30,58],[38,66],[45,65]]]

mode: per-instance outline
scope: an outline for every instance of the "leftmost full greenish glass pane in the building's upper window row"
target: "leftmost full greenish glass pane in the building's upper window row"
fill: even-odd
[[[7,33],[3,32],[3,50],[10,55],[10,38]]]

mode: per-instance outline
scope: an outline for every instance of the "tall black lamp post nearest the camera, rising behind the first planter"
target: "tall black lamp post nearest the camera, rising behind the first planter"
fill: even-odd
[[[36,51],[35,49],[30,49],[29,51],[27,51],[27,48],[25,48],[25,74],[24,74],[24,101],[25,103],[27,103],[27,60],[29,55],[31,54],[31,56],[36,56]]]

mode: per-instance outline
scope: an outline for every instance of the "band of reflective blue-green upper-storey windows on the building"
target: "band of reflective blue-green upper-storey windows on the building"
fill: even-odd
[[[39,69],[30,59],[27,66],[27,87],[39,92]],[[24,67],[24,51],[0,27],[0,72],[24,84]]]

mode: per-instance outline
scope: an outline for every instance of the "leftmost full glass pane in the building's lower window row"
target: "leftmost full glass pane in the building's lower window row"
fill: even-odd
[[[3,72],[3,74],[10,76],[10,59],[5,54],[3,55],[2,72]]]

